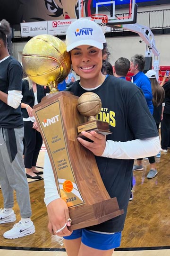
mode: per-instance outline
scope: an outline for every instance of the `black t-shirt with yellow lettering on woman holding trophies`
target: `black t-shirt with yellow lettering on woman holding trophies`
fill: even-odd
[[[74,82],[66,91],[72,91],[76,96],[86,92],[79,85],[79,81]],[[144,94],[136,85],[109,75],[93,92],[98,94],[102,100],[102,109],[97,119],[110,124],[112,134],[108,135],[106,140],[123,142],[158,136],[156,124],[148,109]],[[87,229],[119,232],[124,227],[127,213],[134,160],[99,156],[95,158],[110,197],[117,197],[119,208],[124,209],[125,213]]]

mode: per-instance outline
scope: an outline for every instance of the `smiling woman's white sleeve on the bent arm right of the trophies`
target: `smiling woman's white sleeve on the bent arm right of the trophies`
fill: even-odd
[[[159,150],[159,136],[125,142],[107,140],[102,156],[117,159],[137,159],[157,155]]]

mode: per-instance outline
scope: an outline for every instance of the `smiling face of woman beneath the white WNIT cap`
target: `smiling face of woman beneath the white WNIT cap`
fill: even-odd
[[[94,88],[102,84],[102,50],[93,46],[78,46],[71,52],[73,70],[80,76],[81,85]]]

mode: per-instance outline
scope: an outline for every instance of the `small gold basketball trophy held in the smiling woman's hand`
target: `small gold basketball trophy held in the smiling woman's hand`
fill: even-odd
[[[77,126],[77,137],[85,137],[81,134],[82,131],[91,132],[96,131],[103,135],[111,134],[109,130],[109,124],[96,119],[96,115],[99,114],[102,108],[102,101],[100,97],[94,92],[85,92],[79,99],[77,104],[77,110],[81,115],[88,118],[88,121]]]

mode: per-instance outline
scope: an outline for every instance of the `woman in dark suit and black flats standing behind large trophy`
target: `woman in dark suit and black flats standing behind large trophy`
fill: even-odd
[[[42,171],[36,170],[36,162],[42,146],[42,136],[36,129],[38,128],[34,118],[33,106],[41,102],[45,96],[43,86],[36,84],[29,77],[22,82],[22,113],[24,120],[24,138],[25,138],[25,154],[24,164],[26,167],[26,176],[30,179],[41,179],[38,174]]]

